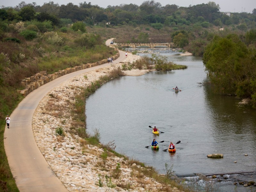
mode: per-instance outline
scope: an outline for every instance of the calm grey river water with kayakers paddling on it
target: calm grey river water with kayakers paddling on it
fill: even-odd
[[[255,191],[256,187],[233,183],[256,182],[256,111],[239,105],[234,97],[213,93],[205,83],[201,58],[181,57],[171,50],[151,51],[188,68],[123,76],[102,85],[86,100],[87,131],[93,134],[98,129],[102,143],[115,140],[117,152],[153,166],[159,173],[165,173],[167,163],[190,184],[195,173],[223,174],[215,179],[216,191]],[[181,91],[174,92],[175,86]],[[149,125],[164,133],[152,134]],[[154,138],[164,140],[160,149],[145,148]],[[176,153],[163,151],[170,141],[179,140]],[[213,153],[224,157],[207,157]],[[205,182],[197,184],[205,187]]]

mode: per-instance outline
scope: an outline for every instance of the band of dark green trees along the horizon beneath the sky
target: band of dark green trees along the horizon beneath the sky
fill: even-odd
[[[2,20],[22,20],[39,21],[49,20],[53,25],[60,25],[60,19],[68,19],[72,22],[83,21],[86,25],[106,24],[125,25],[125,24],[151,24],[155,28],[164,26],[178,27],[180,25],[200,24],[203,27],[238,25],[243,24],[244,28],[256,21],[256,9],[252,13],[226,13],[220,12],[219,4],[209,1],[207,4],[189,5],[179,7],[175,4],[162,6],[160,3],[144,1],[141,5],[120,4],[118,6],[108,5],[101,8],[98,5],[89,3],[79,3],[75,5],[59,5],[50,1],[42,6],[36,3],[26,4],[22,1],[15,7],[3,7],[0,9],[0,19]]]

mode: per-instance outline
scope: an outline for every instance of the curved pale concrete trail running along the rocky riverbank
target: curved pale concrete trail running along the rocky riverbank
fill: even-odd
[[[106,41],[109,45],[113,38]],[[119,63],[125,59],[125,52],[119,51],[120,57],[113,61]],[[32,117],[38,103],[49,91],[62,82],[76,75],[113,63],[76,71],[61,76],[29,93],[12,112],[10,129],[5,129],[4,148],[13,177],[21,192],[68,191],[47,164],[36,145],[32,131]]]

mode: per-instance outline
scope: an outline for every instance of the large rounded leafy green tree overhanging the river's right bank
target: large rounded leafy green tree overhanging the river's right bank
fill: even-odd
[[[205,49],[203,62],[216,91],[239,98],[256,95],[255,51],[250,51],[237,35],[215,36]]]

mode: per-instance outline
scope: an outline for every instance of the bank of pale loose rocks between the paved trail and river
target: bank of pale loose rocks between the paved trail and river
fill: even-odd
[[[51,169],[68,191],[173,191],[177,188],[145,176],[151,170],[137,161],[117,157],[70,132],[74,127],[73,103],[87,87],[110,71],[122,68],[140,56],[129,54],[122,63],[96,69],[73,77],[50,91],[41,100],[33,116],[32,127],[36,143]],[[125,75],[139,76],[148,70],[132,69]],[[63,128],[65,136],[57,136],[56,129]],[[164,176],[158,176],[164,177]]]

